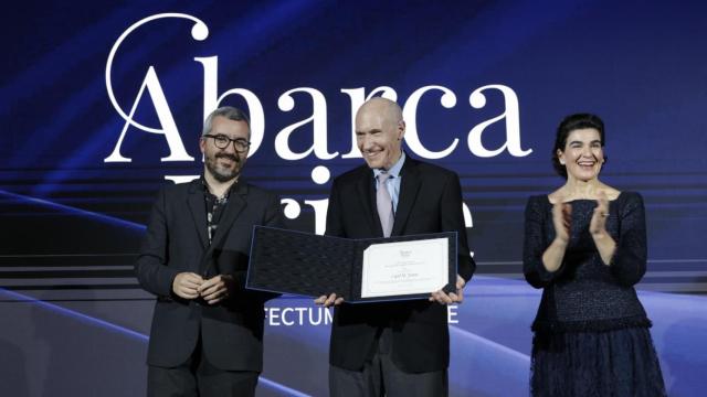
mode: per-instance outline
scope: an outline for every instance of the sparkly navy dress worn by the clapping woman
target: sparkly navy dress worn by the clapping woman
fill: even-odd
[[[589,232],[597,202],[577,200],[562,265],[549,272],[542,254],[555,238],[552,204],[526,206],[524,273],[542,299],[532,331],[534,396],[665,396],[647,319],[633,286],[645,273],[643,198],[623,192],[609,205],[606,230],[616,242],[610,266]]]

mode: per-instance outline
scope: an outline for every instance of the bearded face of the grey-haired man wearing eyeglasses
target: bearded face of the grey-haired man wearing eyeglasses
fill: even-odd
[[[247,124],[243,120],[231,120],[223,116],[217,116],[211,121],[210,135],[223,135],[230,139],[250,138]],[[229,142],[225,149],[219,149],[212,138],[202,137],[199,147],[204,157],[204,168],[213,179],[219,182],[229,182],[235,179],[245,165],[247,150],[239,153],[233,148],[233,142]]]

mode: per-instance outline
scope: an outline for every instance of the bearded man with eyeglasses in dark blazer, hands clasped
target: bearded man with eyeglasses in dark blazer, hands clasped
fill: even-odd
[[[254,396],[263,368],[263,303],[245,290],[254,225],[282,227],[279,198],[245,183],[250,122],[222,107],[204,121],[200,179],[163,187],[137,278],[157,296],[148,396]]]

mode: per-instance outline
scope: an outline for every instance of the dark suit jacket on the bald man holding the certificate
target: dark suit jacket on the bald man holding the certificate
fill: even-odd
[[[439,232],[458,233],[458,273],[471,279],[475,264],[469,256],[462,213],[462,190],[456,173],[405,157],[392,235]],[[373,172],[354,169],[331,185],[327,235],[348,238],[382,237],[376,210]],[[444,369],[450,363],[447,309],[428,300],[386,303],[344,303],[335,309],[329,362],[360,371],[379,328],[392,330],[391,357],[408,373]]]

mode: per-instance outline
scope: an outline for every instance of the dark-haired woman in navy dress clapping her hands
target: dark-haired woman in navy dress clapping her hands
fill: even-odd
[[[532,323],[534,396],[665,396],[633,286],[646,267],[643,198],[602,183],[604,125],[588,114],[558,127],[552,162],[567,179],[531,196],[524,273],[542,299]]]

